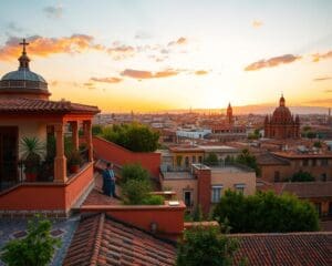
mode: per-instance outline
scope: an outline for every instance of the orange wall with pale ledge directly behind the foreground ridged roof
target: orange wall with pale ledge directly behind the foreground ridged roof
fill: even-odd
[[[176,239],[184,231],[184,203],[179,206],[82,206],[82,213],[105,212],[107,215],[134,225],[145,231],[151,231],[151,224],[157,224],[157,234]]]

